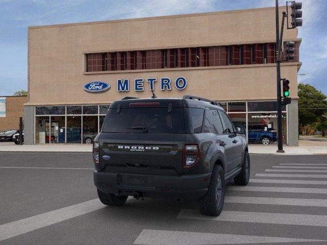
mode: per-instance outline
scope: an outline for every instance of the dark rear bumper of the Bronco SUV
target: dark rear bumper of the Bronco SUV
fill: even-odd
[[[121,174],[94,171],[94,183],[105,193],[133,195],[142,193],[144,197],[169,198],[198,201],[206,194],[212,173],[182,176],[151,175],[151,187],[121,185]],[[142,176],[142,175],[133,175]]]

